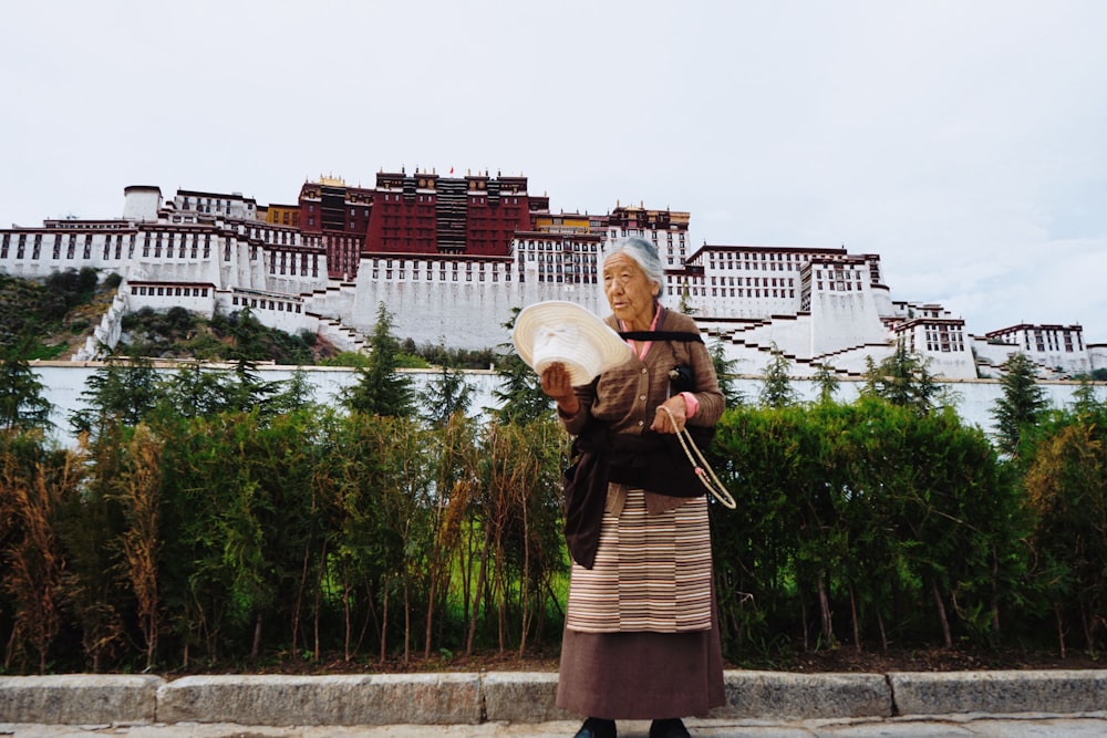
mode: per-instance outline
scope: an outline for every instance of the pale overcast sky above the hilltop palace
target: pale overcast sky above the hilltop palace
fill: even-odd
[[[696,245],[879,253],[972,333],[1107,342],[1100,0],[6,4],[4,227],[487,169],[691,211]]]

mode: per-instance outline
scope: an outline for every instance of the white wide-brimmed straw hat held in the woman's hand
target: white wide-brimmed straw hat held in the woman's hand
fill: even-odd
[[[523,361],[539,374],[555,362],[565,364],[573,386],[588,384],[633,353],[594,313],[560,300],[537,302],[519,311],[511,340]]]

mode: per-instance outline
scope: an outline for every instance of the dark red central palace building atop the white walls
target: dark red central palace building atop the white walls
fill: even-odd
[[[373,188],[320,177],[300,189],[299,224],[318,233],[329,276],[352,281],[363,253],[508,257],[516,231],[534,230],[549,197],[531,197],[526,177],[381,171]]]

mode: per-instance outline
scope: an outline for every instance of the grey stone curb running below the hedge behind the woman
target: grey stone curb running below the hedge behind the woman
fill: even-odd
[[[0,724],[256,726],[538,724],[558,708],[556,673],[335,676],[0,677]],[[1107,671],[792,674],[726,672],[710,717],[889,718],[1107,711]]]

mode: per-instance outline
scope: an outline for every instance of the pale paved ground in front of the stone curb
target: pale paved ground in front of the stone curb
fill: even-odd
[[[620,738],[645,738],[649,723],[619,724]],[[689,720],[695,738],[1101,738],[1107,713],[1088,715],[983,716],[849,720]],[[14,738],[570,738],[578,723],[484,724],[475,726],[397,725],[383,727],[266,728],[230,724],[153,726],[4,725],[0,736]]]

